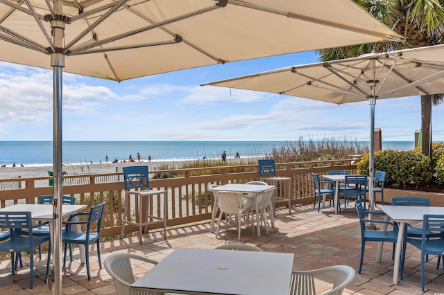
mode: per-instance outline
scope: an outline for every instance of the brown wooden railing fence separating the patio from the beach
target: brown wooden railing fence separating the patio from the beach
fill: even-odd
[[[313,185],[311,172],[322,175],[329,170],[350,170],[355,173],[356,161],[353,159],[277,163],[278,176],[291,177],[291,204],[307,204],[313,202]],[[239,172],[241,171],[241,172]],[[189,168],[176,170],[155,170],[151,177],[157,173],[171,173],[177,177],[167,179],[151,179],[150,188],[168,191],[167,226],[177,226],[190,222],[210,220],[213,196],[208,191],[208,184],[245,183],[259,179],[257,165],[220,166],[210,168]],[[52,195],[52,186],[36,186],[36,182],[49,181],[51,177],[35,177],[16,179],[0,179],[0,207],[17,203],[37,203],[40,195]],[[103,174],[74,174],[63,176],[63,194],[76,197],[76,204],[94,206],[105,201],[105,211],[101,224],[102,235],[118,235],[121,229],[122,215],[128,216],[138,212],[135,199],[131,204],[135,211],[123,212],[124,184],[121,172]],[[283,190],[277,190],[282,195]],[[278,203],[285,206],[287,202]],[[144,204],[142,204],[143,206]],[[161,198],[153,199],[150,204],[149,215],[163,217]],[[146,214],[144,214],[146,215]],[[153,222],[150,229],[159,229],[162,222]],[[126,231],[136,231],[135,226],[126,226]]]

